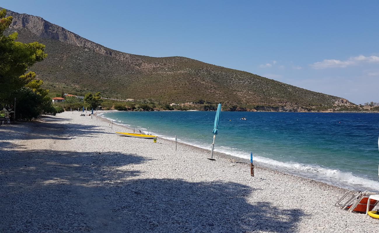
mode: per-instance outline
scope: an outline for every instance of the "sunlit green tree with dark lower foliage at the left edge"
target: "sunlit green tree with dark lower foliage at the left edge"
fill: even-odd
[[[52,111],[49,91],[41,88],[43,81],[28,72],[28,67],[46,58],[45,45],[17,42],[16,32],[5,35],[13,19],[5,15],[5,9],[0,10],[0,103],[13,106],[16,98],[16,118],[31,119],[41,111]]]

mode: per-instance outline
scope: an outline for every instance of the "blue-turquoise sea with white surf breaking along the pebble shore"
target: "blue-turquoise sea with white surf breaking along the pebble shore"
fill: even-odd
[[[111,112],[103,117],[210,149],[211,111]],[[246,117],[247,120],[240,120]],[[379,190],[379,114],[221,112],[215,150],[345,188]],[[159,140],[159,139],[158,139]]]

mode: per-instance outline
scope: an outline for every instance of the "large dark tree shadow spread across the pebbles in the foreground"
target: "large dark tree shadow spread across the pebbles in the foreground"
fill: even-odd
[[[48,213],[56,215],[51,228],[99,233],[293,232],[304,216],[300,209],[282,209],[267,199],[249,201],[260,189],[239,183],[141,177],[134,167],[147,160],[134,154],[13,150],[12,157],[17,158],[12,167],[2,170],[10,178],[0,179],[6,194],[0,217],[27,208],[27,217],[13,220],[24,221],[24,232],[34,229],[25,223],[28,216],[38,224],[35,231],[49,227],[44,225]],[[72,228],[77,218],[85,227]],[[3,221],[0,231],[10,225]]]

